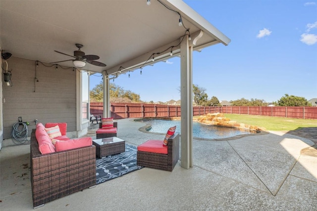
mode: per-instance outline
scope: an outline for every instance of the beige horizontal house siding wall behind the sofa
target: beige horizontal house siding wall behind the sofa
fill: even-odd
[[[12,86],[3,88],[3,139],[11,138],[18,117],[29,122],[28,135],[38,123],[66,122],[67,131],[76,131],[76,71],[52,64],[11,57]],[[35,79],[35,77],[38,79]]]

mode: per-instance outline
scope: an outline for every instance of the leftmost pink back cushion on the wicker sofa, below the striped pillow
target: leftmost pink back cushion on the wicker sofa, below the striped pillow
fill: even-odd
[[[42,123],[39,123],[36,126],[35,137],[38,141],[39,150],[42,154],[56,152],[52,140],[48,133],[45,131],[45,127]]]

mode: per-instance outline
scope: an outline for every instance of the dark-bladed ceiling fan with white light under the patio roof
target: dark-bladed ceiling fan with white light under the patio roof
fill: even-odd
[[[78,50],[74,51],[74,55],[73,56],[68,55],[66,53],[63,53],[63,52],[60,52],[60,51],[57,51],[57,50],[54,50],[57,53],[64,54],[66,56],[71,56],[71,57],[75,58],[75,59],[68,59],[68,60],[63,60],[63,61],[58,61],[58,62],[73,61],[73,64],[76,67],[84,67],[87,62],[89,64],[96,65],[96,66],[99,66],[99,67],[106,67],[106,64],[104,64],[102,62],[99,62],[99,61],[95,61],[95,60],[100,58],[99,56],[97,56],[97,55],[85,55],[85,52],[80,50],[80,48],[82,48],[83,46],[84,45],[82,45],[82,44],[76,43],[76,47],[78,47]],[[52,63],[58,63],[58,62],[51,62],[51,64]]]

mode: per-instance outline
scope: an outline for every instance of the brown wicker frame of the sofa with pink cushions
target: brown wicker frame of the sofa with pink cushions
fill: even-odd
[[[63,196],[96,186],[94,145],[42,154],[31,133],[31,186],[34,209]]]

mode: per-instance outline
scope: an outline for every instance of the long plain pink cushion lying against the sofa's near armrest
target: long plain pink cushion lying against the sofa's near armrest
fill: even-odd
[[[91,146],[92,144],[93,144],[93,140],[91,137],[75,138],[75,139],[70,139],[67,141],[57,140],[55,142],[57,152],[69,150],[69,149],[76,149],[79,147]]]

